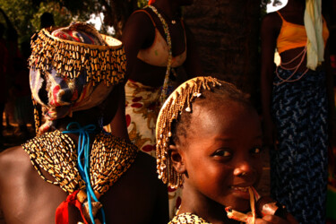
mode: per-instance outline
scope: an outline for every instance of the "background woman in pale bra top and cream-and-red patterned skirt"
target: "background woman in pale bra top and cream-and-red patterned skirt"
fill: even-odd
[[[125,84],[129,138],[155,157],[155,124],[162,102],[175,88],[173,82],[178,85],[185,76],[201,74],[202,68],[193,35],[181,18],[181,6],[193,4],[193,0],[156,0],[149,4],[130,16],[122,41],[129,79]],[[177,192],[169,192],[172,215],[179,202]]]

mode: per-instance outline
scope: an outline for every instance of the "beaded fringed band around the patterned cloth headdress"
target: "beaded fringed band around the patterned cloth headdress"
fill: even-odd
[[[77,22],[76,26],[92,32],[84,24]],[[109,86],[124,79],[126,58],[121,41],[99,34],[106,45],[92,45],[56,38],[47,29],[37,35],[31,41],[30,68],[46,72],[54,67],[56,75],[66,79],[77,78],[84,69],[86,82],[93,85],[103,81]]]

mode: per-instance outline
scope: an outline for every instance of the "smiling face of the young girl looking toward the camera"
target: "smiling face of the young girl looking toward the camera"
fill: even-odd
[[[257,184],[263,169],[257,113],[232,101],[193,107],[189,133],[177,145],[183,147],[185,185],[205,202],[249,210],[247,187]]]

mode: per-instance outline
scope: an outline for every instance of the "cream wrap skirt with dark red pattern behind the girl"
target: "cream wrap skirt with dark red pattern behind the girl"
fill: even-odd
[[[125,84],[125,114],[130,140],[141,150],[156,158],[155,126],[161,104],[160,87],[145,86],[128,80]],[[180,190],[168,188],[169,217],[180,205]]]

